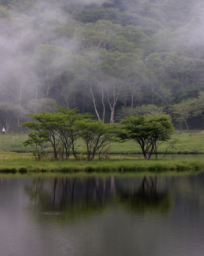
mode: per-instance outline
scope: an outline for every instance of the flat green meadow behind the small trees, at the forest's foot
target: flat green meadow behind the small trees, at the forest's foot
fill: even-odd
[[[27,134],[6,134],[0,135],[0,151],[7,152],[32,152],[32,147],[24,147],[23,142],[27,139]],[[172,140],[179,140],[174,148],[169,148],[168,153],[175,153],[181,149],[181,153],[201,153],[204,154],[204,131],[189,131],[175,133]],[[77,153],[85,151],[86,148],[82,141],[78,141]],[[158,153],[163,153],[169,142],[164,142],[159,148]],[[51,151],[49,144],[46,144],[46,151]],[[124,143],[113,142],[110,148],[111,154],[136,154],[142,153],[140,148],[133,141]]]

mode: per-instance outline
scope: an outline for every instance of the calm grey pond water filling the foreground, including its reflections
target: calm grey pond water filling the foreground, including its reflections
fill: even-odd
[[[204,255],[204,172],[0,176],[2,256]]]

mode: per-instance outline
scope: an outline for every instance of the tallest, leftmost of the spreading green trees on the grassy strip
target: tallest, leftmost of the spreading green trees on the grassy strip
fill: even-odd
[[[90,115],[77,114],[77,109],[71,110],[58,107],[58,110],[59,112],[56,113],[40,112],[39,114],[29,114],[34,122],[26,122],[22,126],[38,131],[39,138],[44,138],[45,141],[51,143],[56,161],[58,160],[58,155],[61,160],[63,159],[64,151],[66,159],[69,159],[71,152],[77,159],[75,144],[79,138],[79,128],[75,123],[79,120],[90,118]],[[41,143],[35,137],[30,139],[31,143],[32,140],[34,143]]]

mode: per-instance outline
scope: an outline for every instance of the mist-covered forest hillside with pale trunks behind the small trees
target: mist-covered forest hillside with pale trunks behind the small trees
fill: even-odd
[[[7,132],[56,104],[105,123],[162,112],[203,129],[203,1],[0,0],[0,22]]]

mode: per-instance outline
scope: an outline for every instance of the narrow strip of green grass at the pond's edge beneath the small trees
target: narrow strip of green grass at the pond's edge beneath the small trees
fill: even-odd
[[[203,164],[193,160],[144,160],[142,158],[113,156],[110,159],[77,161],[71,157],[69,161],[34,161],[31,154],[1,154],[0,172],[136,172],[136,171],[182,171],[198,170]]]

